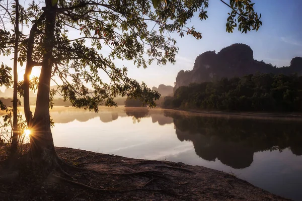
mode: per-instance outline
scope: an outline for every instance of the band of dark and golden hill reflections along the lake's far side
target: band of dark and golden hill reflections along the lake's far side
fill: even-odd
[[[55,123],[86,122],[93,118],[107,123],[127,116],[132,117],[133,123],[142,118],[152,118],[153,123],[161,126],[174,123],[177,138],[193,142],[199,157],[208,161],[218,159],[233,168],[250,166],[254,153],[259,151],[289,148],[294,155],[302,155],[302,124],[298,121],[209,117],[146,108],[105,108],[99,113],[71,108],[51,113]]]

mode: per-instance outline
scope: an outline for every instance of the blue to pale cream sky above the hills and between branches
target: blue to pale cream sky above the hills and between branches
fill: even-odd
[[[228,1],[226,1],[228,2]],[[194,26],[202,33],[202,39],[196,40],[185,35],[177,40],[179,52],[176,55],[176,64],[157,66],[154,62],[147,69],[136,68],[132,62],[117,60],[116,66],[128,67],[128,76],[138,81],[144,81],[149,87],[159,84],[174,86],[175,78],[180,70],[191,70],[195,58],[205,51],[219,52],[222,48],[234,43],[249,45],[254,52],[254,59],[263,60],[277,67],[288,66],[290,60],[302,56],[302,7],[301,0],[252,0],[254,9],[262,14],[262,27],[247,34],[239,31],[227,33],[225,31],[226,18],[231,12],[219,0],[210,0],[208,19],[200,21],[198,14],[194,16],[188,26]],[[12,60],[0,56],[0,62],[12,65]],[[39,68],[33,70],[39,74]],[[19,67],[19,78],[24,74],[24,66]],[[3,90],[3,88],[1,88]]]

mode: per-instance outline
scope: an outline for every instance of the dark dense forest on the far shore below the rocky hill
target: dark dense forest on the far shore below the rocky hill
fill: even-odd
[[[220,111],[302,111],[302,76],[250,74],[179,87],[163,107]]]

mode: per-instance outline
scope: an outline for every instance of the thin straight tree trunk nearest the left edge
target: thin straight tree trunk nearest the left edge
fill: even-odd
[[[13,95],[13,139],[12,139],[12,153],[16,153],[18,146],[18,47],[19,47],[19,0],[16,3],[16,19],[15,19],[15,52],[14,52],[14,95]]]

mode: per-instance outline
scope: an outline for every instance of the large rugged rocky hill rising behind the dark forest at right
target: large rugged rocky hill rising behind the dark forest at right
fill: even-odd
[[[217,54],[207,51],[196,57],[192,70],[181,70],[177,74],[174,90],[190,83],[213,81],[222,77],[242,77],[247,74],[302,74],[302,58],[295,57],[290,66],[276,67],[263,61],[254,60],[253,50],[245,44],[233,44]]]

